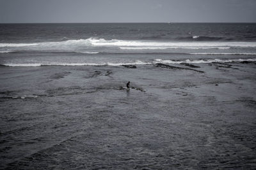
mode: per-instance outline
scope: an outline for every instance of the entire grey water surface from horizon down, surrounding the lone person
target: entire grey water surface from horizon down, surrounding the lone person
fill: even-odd
[[[255,35],[0,24],[0,169],[255,169]]]

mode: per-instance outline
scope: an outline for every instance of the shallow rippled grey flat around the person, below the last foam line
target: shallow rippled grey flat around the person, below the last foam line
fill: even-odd
[[[1,66],[0,169],[255,169],[255,73]]]

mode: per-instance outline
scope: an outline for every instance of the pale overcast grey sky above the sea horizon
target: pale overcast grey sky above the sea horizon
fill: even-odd
[[[0,0],[0,23],[256,22],[256,0]]]

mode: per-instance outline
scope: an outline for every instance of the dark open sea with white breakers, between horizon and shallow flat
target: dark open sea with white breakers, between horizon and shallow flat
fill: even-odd
[[[84,66],[256,59],[256,24],[1,24],[0,64]]]

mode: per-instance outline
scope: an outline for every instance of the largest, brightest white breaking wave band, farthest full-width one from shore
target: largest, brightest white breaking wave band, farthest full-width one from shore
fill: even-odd
[[[200,42],[175,42],[175,41],[130,41],[120,39],[73,39],[58,42],[44,43],[0,43],[0,47],[70,47],[70,46],[118,46],[124,47],[141,47],[141,48],[228,48],[228,47],[256,47],[256,42],[217,42],[217,41],[200,41]],[[47,49],[46,48],[46,49]]]

